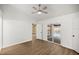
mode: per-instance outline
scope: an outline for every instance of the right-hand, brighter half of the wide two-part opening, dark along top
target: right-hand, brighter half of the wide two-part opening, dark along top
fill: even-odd
[[[53,39],[55,43],[61,43],[61,33],[60,33],[61,24],[53,24]]]

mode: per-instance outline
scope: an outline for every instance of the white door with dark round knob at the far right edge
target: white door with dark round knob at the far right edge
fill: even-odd
[[[72,48],[79,52],[79,19],[72,21]]]

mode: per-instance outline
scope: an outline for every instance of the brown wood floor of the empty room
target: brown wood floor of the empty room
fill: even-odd
[[[2,49],[1,55],[79,55],[76,51],[43,40],[33,40]]]

